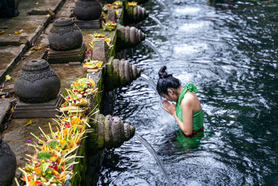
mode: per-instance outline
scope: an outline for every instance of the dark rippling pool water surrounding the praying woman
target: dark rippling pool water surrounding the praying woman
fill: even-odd
[[[167,3],[167,1],[165,1]],[[183,85],[197,86],[205,134],[197,148],[177,148],[179,129],[142,78],[120,88],[114,115],[152,144],[174,185],[278,185],[278,1],[173,1],[172,19],[155,1],[143,5],[167,28],[147,19],[139,29]],[[157,81],[159,57],[141,43],[126,59]],[[166,185],[158,164],[133,137],[108,150],[99,185]]]

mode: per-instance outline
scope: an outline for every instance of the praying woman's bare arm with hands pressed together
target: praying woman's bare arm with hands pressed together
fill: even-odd
[[[189,101],[189,102],[188,102]],[[177,121],[179,127],[183,134],[190,135],[193,132],[193,109],[191,107],[191,101],[188,100],[181,101],[181,111],[183,116],[183,122],[179,120],[176,114],[176,105],[170,104],[167,100],[163,100],[163,104],[166,108],[162,107],[165,111],[171,114],[174,119]]]

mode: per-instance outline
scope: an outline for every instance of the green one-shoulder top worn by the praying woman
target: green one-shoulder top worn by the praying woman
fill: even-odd
[[[186,94],[186,91],[195,92],[197,93],[198,90],[194,84],[186,84],[186,86],[181,91],[179,95],[179,99],[176,104],[176,114],[180,121],[183,121],[182,112],[181,112],[181,100],[183,96]],[[199,111],[193,111],[193,130],[198,131],[202,128],[204,123],[204,111],[203,109],[199,109]]]

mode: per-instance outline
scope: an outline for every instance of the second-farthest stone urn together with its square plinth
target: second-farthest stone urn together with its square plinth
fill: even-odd
[[[82,31],[71,18],[57,19],[49,33],[50,51],[46,55],[49,63],[83,61],[85,44]]]

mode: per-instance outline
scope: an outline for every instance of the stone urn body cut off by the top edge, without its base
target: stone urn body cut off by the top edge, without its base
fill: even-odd
[[[74,8],[74,15],[78,20],[97,20],[101,16],[102,8],[99,1],[78,0]]]

